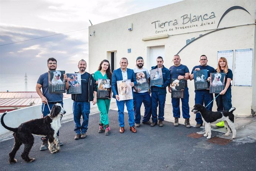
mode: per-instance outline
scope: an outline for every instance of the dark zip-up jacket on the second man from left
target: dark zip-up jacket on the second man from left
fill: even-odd
[[[87,74],[89,76],[88,86],[86,86],[87,80],[81,80],[82,83],[82,93],[81,94],[72,94],[71,98],[73,101],[93,101],[93,91],[97,92],[97,85],[95,83],[95,80],[93,78],[93,74],[89,74],[88,72],[85,72],[84,74]],[[82,78],[82,75],[81,75]],[[84,82],[85,81],[85,82]],[[85,87],[87,87],[85,89]],[[87,92],[86,92],[87,91]],[[89,93],[88,93],[89,92]],[[86,94],[88,94],[88,99],[86,98]]]

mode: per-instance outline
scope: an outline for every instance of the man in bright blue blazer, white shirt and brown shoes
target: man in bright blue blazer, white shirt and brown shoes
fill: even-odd
[[[113,71],[112,79],[111,79],[111,89],[113,92],[113,98],[116,99],[116,104],[118,107],[118,121],[119,121],[119,126],[120,126],[119,132],[124,133],[124,104],[126,104],[128,116],[129,116],[130,130],[133,133],[136,133],[137,131],[134,128],[133,99],[120,101],[120,98],[118,96],[116,81],[131,79],[130,85],[132,87],[137,84],[137,81],[136,81],[135,73],[133,72],[133,70],[127,68],[128,60],[126,57],[121,58],[120,66],[121,66],[121,68],[118,68]],[[133,91],[132,91],[132,95],[134,96]]]

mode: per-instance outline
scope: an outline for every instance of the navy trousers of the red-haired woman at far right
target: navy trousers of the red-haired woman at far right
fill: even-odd
[[[217,95],[219,94],[215,94],[215,97]],[[217,111],[229,111],[232,108],[231,98],[231,88],[228,88],[224,95],[219,95],[216,98]]]

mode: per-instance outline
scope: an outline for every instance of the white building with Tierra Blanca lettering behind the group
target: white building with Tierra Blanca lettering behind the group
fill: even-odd
[[[138,56],[148,70],[157,56],[164,57],[169,68],[175,54],[191,72],[203,54],[213,68],[223,56],[233,71],[235,114],[250,116],[256,111],[255,7],[255,0],[184,0],[90,26],[89,72],[95,72],[103,59],[117,69],[121,57],[134,68]],[[188,88],[192,107],[194,81],[188,81]],[[170,96],[167,93],[167,104]]]

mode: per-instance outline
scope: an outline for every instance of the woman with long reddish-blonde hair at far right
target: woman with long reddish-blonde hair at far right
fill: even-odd
[[[225,88],[223,91],[220,92],[220,95],[215,94],[215,97],[217,95],[219,95],[216,98],[217,111],[223,111],[223,110],[229,111],[229,109],[232,108],[231,80],[233,79],[233,73],[232,73],[232,70],[229,69],[229,67],[227,65],[227,59],[225,57],[220,57],[217,69],[214,72],[225,73]],[[217,123],[216,126],[223,127],[224,122],[221,121],[221,122]]]

